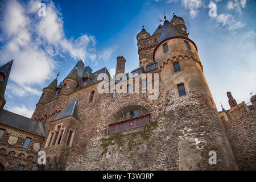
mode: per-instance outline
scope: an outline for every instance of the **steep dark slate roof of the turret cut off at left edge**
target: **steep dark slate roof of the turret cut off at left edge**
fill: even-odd
[[[11,66],[13,65],[13,60],[9,61],[9,63],[6,63],[2,67],[0,67],[0,73],[5,76],[5,79],[0,82],[0,97],[5,100],[5,89],[7,85],[7,81],[10,75]]]

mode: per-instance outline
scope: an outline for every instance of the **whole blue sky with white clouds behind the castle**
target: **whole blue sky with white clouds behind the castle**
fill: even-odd
[[[220,102],[229,109],[228,91],[247,103],[256,92],[255,7],[252,0],[1,1],[0,65],[14,59],[4,109],[31,117],[42,89],[84,55],[93,71],[115,68],[117,56],[125,57],[126,73],[138,68],[136,35],[142,26],[152,34],[163,11],[185,20],[218,110]]]

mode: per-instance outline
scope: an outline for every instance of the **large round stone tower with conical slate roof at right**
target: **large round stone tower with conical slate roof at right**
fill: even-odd
[[[167,170],[238,169],[196,44],[178,29],[182,18],[172,22],[177,28],[165,20],[153,54],[162,78]]]

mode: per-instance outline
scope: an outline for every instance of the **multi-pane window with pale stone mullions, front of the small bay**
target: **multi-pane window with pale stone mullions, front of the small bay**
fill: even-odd
[[[50,131],[46,142],[46,147],[61,144],[65,128],[62,127],[63,123],[55,126],[54,131]]]

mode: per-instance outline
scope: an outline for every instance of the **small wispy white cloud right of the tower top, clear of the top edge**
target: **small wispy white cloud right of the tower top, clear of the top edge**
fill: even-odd
[[[237,20],[230,14],[220,14],[217,18],[217,23],[221,23],[223,27],[229,30],[236,30],[245,26],[242,22],[237,22]]]

